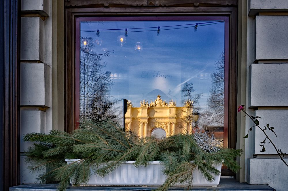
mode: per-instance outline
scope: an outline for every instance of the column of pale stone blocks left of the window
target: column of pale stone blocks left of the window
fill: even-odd
[[[49,0],[21,2],[20,132],[21,184],[35,183],[23,152],[32,143],[22,141],[31,132],[47,133],[51,122],[52,15]]]

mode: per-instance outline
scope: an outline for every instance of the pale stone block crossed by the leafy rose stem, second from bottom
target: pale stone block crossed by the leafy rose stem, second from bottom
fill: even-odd
[[[274,127],[275,134],[269,130],[266,130],[266,133],[269,135],[269,138],[276,145],[276,148],[282,149],[283,152],[288,152],[287,150],[287,116],[288,110],[257,110],[255,111],[256,116],[260,116],[262,119],[258,119],[260,127],[266,126],[269,123],[270,127]],[[262,147],[259,146],[260,142],[265,139],[264,133],[259,129],[255,128],[255,154],[277,154],[276,150],[271,143],[268,143],[269,140],[266,140],[268,144],[265,144],[265,152],[260,152]]]

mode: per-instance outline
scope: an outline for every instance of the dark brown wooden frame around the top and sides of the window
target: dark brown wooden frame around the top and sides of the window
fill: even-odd
[[[87,3],[84,1],[71,0],[65,2],[65,131],[71,132],[76,127],[76,115],[75,105],[76,97],[75,86],[76,75],[79,75],[79,70],[75,67],[75,46],[76,46],[76,20],[83,17],[121,17],[121,16],[201,16],[201,17],[216,17],[224,16],[229,19],[228,41],[225,41],[225,55],[229,55],[225,59],[228,60],[228,69],[225,70],[225,76],[228,76],[225,83],[225,97],[227,101],[224,103],[225,110],[224,116],[226,121],[224,122],[224,128],[227,128],[228,133],[228,145],[229,148],[236,148],[236,91],[237,91],[237,1],[235,0],[208,0],[203,4],[199,3],[185,3],[183,5],[173,5],[172,0],[163,1],[163,5],[169,4],[169,6],[155,6],[156,0],[151,1],[154,6],[148,6],[151,4],[147,1],[147,4],[140,5],[142,1],[97,1],[97,4]],[[162,2],[161,1],[161,2]],[[135,3],[136,2],[136,3]],[[176,1],[175,1],[176,2]],[[208,3],[207,3],[208,2]],[[209,2],[212,2],[209,4]],[[122,3],[122,4],[121,4]],[[130,4],[129,4],[130,3]],[[128,5],[127,5],[128,4]],[[71,7],[75,5],[75,7]],[[197,5],[197,6],[196,6]],[[201,6],[200,6],[201,5]],[[79,29],[79,28],[78,28]],[[225,32],[225,33],[226,33]],[[226,34],[225,34],[226,36]],[[227,46],[226,46],[227,45]],[[227,68],[227,67],[226,67]],[[224,136],[227,136],[224,134]]]

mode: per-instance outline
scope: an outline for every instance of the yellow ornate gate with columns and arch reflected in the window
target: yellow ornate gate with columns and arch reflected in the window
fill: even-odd
[[[139,136],[150,136],[154,129],[164,129],[166,136],[175,133],[186,133],[191,128],[185,125],[187,115],[192,114],[190,105],[176,107],[176,102],[170,100],[169,103],[163,101],[158,95],[157,99],[151,103],[143,100],[140,107],[133,107],[128,101],[128,108],[125,114],[125,129],[138,132]]]

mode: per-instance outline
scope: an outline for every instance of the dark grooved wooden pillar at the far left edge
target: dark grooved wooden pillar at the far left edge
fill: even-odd
[[[0,1],[0,190],[20,184],[20,0]]]

